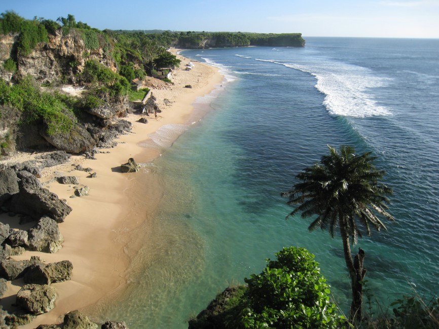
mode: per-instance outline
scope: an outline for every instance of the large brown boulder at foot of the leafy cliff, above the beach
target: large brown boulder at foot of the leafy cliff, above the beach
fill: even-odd
[[[45,130],[42,130],[40,134],[57,149],[67,153],[86,152],[96,145],[96,141],[90,133],[80,124],[74,125],[68,132],[48,135]]]

